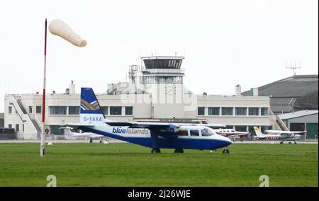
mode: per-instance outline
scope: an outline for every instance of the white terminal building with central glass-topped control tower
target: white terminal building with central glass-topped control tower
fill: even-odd
[[[247,96],[240,85],[228,96],[198,95],[184,86],[184,57],[142,57],[141,65],[130,66],[128,82],[108,84],[96,94],[106,118],[115,121],[183,122],[227,125],[238,131],[253,126],[262,130],[288,129],[270,110],[269,96],[252,88]],[[38,139],[42,128],[42,94],[7,94],[4,98],[4,126],[16,130],[18,138]],[[80,95],[75,84],[65,93],[46,94],[45,128],[62,138],[58,128],[79,122]]]

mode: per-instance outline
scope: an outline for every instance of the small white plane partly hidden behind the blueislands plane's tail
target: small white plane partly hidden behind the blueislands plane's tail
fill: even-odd
[[[100,143],[108,144],[108,140],[105,136],[101,134],[95,134],[93,132],[84,132],[84,133],[78,133],[78,132],[72,132],[72,127],[60,127],[59,129],[62,129],[65,131],[65,139],[77,139],[82,137],[89,137],[90,143],[93,142],[93,139],[99,139]]]

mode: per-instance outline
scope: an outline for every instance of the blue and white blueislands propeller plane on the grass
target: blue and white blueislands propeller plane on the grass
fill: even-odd
[[[216,134],[204,125],[176,125],[158,122],[111,122],[105,120],[99,101],[92,88],[81,88],[80,123],[66,126],[77,127],[84,132],[92,132],[105,137],[152,148],[152,153],[160,149],[210,149],[225,147],[223,154],[229,154],[230,139]]]

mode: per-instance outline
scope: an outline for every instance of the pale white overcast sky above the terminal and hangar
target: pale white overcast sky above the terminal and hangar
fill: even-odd
[[[141,56],[185,57],[184,84],[234,94],[296,74],[318,74],[318,0],[0,1],[0,113],[8,93],[43,90],[44,23],[60,18],[87,41],[47,35],[47,93],[71,80],[103,93]]]

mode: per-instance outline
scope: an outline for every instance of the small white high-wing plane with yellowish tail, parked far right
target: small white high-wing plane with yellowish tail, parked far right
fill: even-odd
[[[278,131],[276,134],[262,134],[258,127],[254,127],[254,132],[256,134],[257,139],[271,139],[271,140],[279,140],[280,144],[283,144],[284,141],[293,141],[297,144],[296,140],[300,139],[301,135],[296,134],[291,131]],[[289,142],[291,144],[291,142]]]

